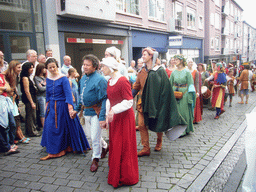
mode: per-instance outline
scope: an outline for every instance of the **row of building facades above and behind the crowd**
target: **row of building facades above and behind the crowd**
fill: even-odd
[[[255,60],[255,29],[242,22],[234,0],[3,0],[0,9],[0,50],[8,62],[26,60],[30,48],[50,48],[61,64],[70,55],[80,72],[84,55],[102,59],[110,46],[127,64],[148,46],[167,60]]]

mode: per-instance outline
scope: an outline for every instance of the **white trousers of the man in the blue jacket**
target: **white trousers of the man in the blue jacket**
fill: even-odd
[[[101,137],[101,127],[100,122],[95,116],[84,116],[85,124],[83,126],[83,130],[85,135],[92,140],[92,160],[94,158],[100,159],[102,147],[107,148],[108,144]]]

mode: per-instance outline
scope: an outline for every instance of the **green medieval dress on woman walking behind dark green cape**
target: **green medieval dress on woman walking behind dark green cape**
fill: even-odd
[[[190,131],[194,132],[193,120],[196,92],[193,77],[190,71],[185,68],[181,71],[174,70],[171,74],[170,81],[173,91],[181,91],[183,93],[182,99],[177,100],[178,111],[188,124],[183,135],[186,135]]]

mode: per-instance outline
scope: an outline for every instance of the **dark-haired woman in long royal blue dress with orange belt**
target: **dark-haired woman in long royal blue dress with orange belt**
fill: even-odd
[[[84,152],[90,148],[78,117],[71,119],[73,98],[69,80],[58,70],[58,63],[49,58],[46,63],[46,113],[41,145],[47,160],[61,157],[66,152]]]

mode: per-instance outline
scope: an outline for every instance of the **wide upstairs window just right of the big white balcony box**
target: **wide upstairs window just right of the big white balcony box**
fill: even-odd
[[[116,0],[116,8],[119,11],[139,15],[139,0]]]

